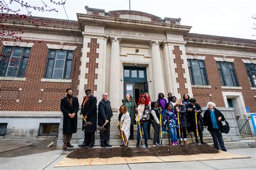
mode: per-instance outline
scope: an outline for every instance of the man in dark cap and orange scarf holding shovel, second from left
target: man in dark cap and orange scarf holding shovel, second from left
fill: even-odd
[[[95,144],[95,132],[97,130],[97,99],[91,96],[91,90],[85,91],[86,97],[82,103],[81,113],[83,114],[85,120],[92,123],[91,126],[83,126],[84,130],[84,142],[79,147],[89,146],[93,147]],[[83,119],[84,124],[84,119]],[[82,125],[83,125],[82,124]]]

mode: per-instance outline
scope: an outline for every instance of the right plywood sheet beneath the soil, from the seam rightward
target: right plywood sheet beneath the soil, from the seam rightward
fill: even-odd
[[[199,161],[199,160],[220,160],[220,159],[241,159],[250,158],[244,155],[239,155],[236,153],[223,152],[219,153],[202,153],[197,155],[173,155],[168,157],[158,157],[164,162],[180,162],[180,161]]]

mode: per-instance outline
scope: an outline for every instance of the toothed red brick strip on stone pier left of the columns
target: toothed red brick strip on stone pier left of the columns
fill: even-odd
[[[87,53],[89,63],[86,63],[86,68],[88,68],[89,71],[85,74],[87,84],[84,86],[84,90],[91,89],[93,94],[94,91],[97,91],[95,79],[98,78],[98,75],[95,73],[95,69],[98,69],[98,63],[96,63],[96,58],[99,58],[99,54],[96,52],[96,50],[99,48],[99,44],[97,44],[97,39],[91,38],[91,43],[88,43],[88,47],[90,47],[90,52]]]

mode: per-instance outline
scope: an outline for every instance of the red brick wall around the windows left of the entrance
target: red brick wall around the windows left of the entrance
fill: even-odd
[[[9,39],[11,40],[11,39]],[[60,99],[65,97],[65,89],[71,87],[73,95],[78,95],[78,75],[80,73],[80,57],[82,57],[82,44],[64,43],[64,45],[77,46],[73,51],[71,79],[72,83],[42,82],[45,66],[48,58],[48,46],[46,44],[58,44],[57,42],[33,41],[26,67],[25,81],[0,80],[0,110],[4,111],[60,111]],[[0,43],[2,53],[3,44]],[[19,91],[21,89],[21,91]],[[44,91],[41,91],[44,89]],[[18,102],[16,100],[18,99]],[[42,100],[39,103],[39,100]]]

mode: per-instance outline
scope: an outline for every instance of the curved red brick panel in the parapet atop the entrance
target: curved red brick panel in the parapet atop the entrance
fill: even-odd
[[[120,15],[137,15],[137,16],[143,16],[143,17],[147,17],[147,18],[151,18],[152,22],[160,22],[160,17],[154,16],[154,15],[150,15],[149,13],[144,13],[144,12],[139,12],[139,11],[110,11],[110,17],[116,17],[119,18]]]

